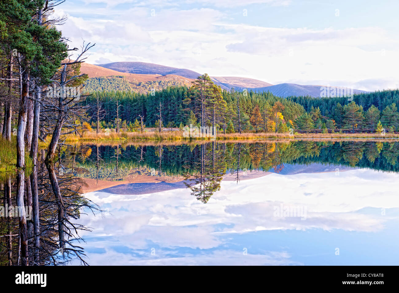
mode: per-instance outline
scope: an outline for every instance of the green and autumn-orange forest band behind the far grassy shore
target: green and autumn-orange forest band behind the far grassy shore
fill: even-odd
[[[98,102],[96,102],[98,99]],[[225,133],[377,131],[399,127],[399,90],[355,94],[348,98],[280,98],[271,92],[221,90],[207,74],[187,88],[168,87],[138,94],[94,92],[83,103],[101,104],[99,128],[138,131],[146,127],[215,126]],[[117,107],[118,104],[118,107]],[[117,111],[118,110],[118,111]],[[88,115],[97,124],[97,107]]]

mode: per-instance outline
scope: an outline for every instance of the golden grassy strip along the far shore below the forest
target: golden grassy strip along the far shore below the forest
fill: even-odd
[[[399,139],[399,133],[386,133],[380,135],[378,133],[220,133],[215,138],[212,137],[184,137],[182,131],[174,132],[121,132],[121,133],[85,133],[82,136],[68,135],[66,142],[126,142],[126,141],[212,141],[212,140],[248,140],[248,139]]]

